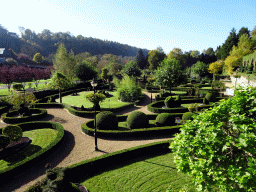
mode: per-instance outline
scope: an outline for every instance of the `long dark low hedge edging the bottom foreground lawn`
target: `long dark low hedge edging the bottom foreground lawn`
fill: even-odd
[[[147,157],[171,152],[169,149],[170,142],[171,140],[150,143],[81,161],[66,167],[65,176],[69,182],[81,183],[86,178],[111,169],[113,165],[118,166],[127,163],[136,157]]]

